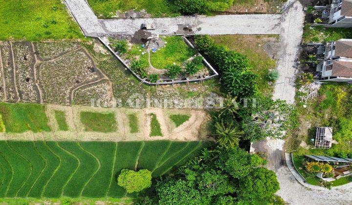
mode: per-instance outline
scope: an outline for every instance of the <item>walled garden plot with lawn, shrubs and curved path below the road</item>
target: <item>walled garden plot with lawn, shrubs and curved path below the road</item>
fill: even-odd
[[[136,41],[135,37],[128,40],[110,39],[110,46],[138,76],[149,82],[198,79],[212,75],[202,56],[182,37],[152,36],[147,39],[137,43],[132,43]]]

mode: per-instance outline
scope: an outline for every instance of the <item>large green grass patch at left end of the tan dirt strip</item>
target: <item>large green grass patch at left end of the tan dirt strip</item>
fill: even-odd
[[[0,102],[0,114],[6,132],[50,131],[42,104]]]

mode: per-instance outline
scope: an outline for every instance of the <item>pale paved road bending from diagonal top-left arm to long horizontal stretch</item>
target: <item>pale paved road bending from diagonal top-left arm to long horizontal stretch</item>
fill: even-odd
[[[98,20],[86,0],[65,0],[86,36],[133,35],[142,23],[154,23],[153,34],[280,34],[281,15],[182,16],[176,18]],[[185,25],[192,31],[184,30]]]

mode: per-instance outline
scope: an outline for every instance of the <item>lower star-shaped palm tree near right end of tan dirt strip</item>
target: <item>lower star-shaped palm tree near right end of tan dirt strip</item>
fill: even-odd
[[[216,136],[217,142],[221,146],[231,146],[234,147],[235,145],[238,146],[240,143],[240,138],[243,135],[243,132],[240,128],[233,123],[225,125],[223,122],[215,123],[216,127]]]

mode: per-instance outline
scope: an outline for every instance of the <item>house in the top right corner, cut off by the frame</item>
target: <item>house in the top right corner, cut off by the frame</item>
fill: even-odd
[[[322,11],[322,22],[313,25],[352,27],[352,0],[332,0],[328,6],[314,6],[314,8]]]

